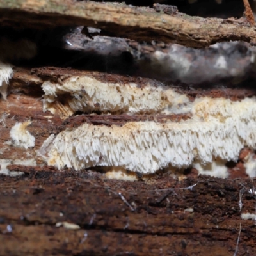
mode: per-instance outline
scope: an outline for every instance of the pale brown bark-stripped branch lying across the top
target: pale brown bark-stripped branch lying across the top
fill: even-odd
[[[1,1],[0,22],[19,27],[20,20],[23,26],[38,29],[92,26],[102,29],[101,35],[148,42],[159,40],[197,48],[229,40],[256,44],[255,27],[236,19],[204,19],[175,12],[169,15],[150,8],[93,1]]]

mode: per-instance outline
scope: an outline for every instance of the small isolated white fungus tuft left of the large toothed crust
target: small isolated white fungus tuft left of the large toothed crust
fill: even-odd
[[[35,147],[35,137],[26,129],[32,122],[24,122],[15,124],[11,131],[10,137],[16,147],[28,149]]]

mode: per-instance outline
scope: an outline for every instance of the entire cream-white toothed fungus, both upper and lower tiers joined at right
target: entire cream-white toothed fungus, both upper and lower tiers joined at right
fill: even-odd
[[[209,164],[215,164],[215,175],[227,177],[225,163],[236,161],[242,148],[255,148],[255,97],[240,101],[196,97],[192,102],[185,94],[161,85],[147,84],[141,88],[116,83],[104,88],[102,84],[97,86],[88,77],[73,77],[52,86],[47,82],[43,85],[44,108],[56,108],[58,97],[67,97],[69,93],[71,97],[63,105],[71,112],[97,108],[108,113],[120,111],[131,115],[146,111],[156,114],[155,117],[161,113],[184,118],[175,121],[166,115],[161,122],[139,120],[110,126],[86,122],[67,127],[42,145],[40,152],[48,164],[75,170],[112,166],[143,175],[193,165],[200,166],[198,170],[203,173]]]

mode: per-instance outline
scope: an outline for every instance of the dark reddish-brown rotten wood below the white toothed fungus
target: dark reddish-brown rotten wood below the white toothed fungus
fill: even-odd
[[[241,220],[255,211],[252,180],[116,182],[92,172],[22,170],[0,177],[1,255],[227,256],[240,223],[237,255],[256,253],[254,220]],[[75,225],[59,227],[64,222]]]

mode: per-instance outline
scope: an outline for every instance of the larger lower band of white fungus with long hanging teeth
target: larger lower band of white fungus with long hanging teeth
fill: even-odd
[[[108,99],[111,99],[109,95]],[[175,97],[172,99],[175,102]],[[189,119],[166,120],[165,123],[127,122],[110,127],[86,123],[51,136],[40,152],[48,164],[58,168],[67,166],[81,170],[92,166],[116,166],[149,174],[162,168],[186,168],[198,161],[202,165],[214,161],[224,164],[236,161],[242,148],[255,148],[255,97],[241,101],[198,97],[189,102],[189,108],[188,98],[182,95],[182,99],[186,102],[180,102],[180,106],[186,106],[182,112],[190,114]],[[169,107],[172,100],[169,104],[164,108],[172,113]],[[81,105],[81,108],[84,107]],[[173,113],[175,111],[176,108]],[[220,166],[217,162],[215,167]]]

